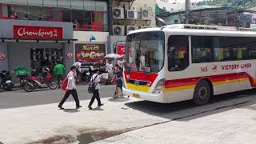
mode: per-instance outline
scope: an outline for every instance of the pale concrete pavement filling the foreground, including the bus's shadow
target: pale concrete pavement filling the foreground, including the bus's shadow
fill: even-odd
[[[105,105],[94,110],[87,109],[89,100],[79,110],[74,102],[66,102],[66,110],[58,110],[58,103],[2,109],[0,142],[252,143],[254,94],[222,95],[206,106],[102,98]]]

